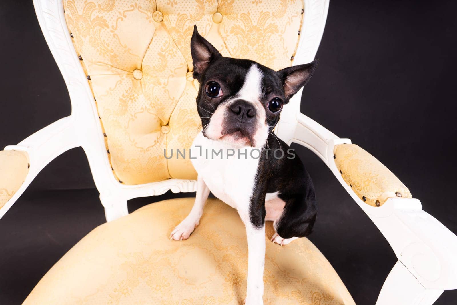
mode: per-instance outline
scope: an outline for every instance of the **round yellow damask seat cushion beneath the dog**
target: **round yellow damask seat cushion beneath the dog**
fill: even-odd
[[[236,210],[209,199],[186,241],[171,230],[194,198],[151,203],[100,225],[62,257],[24,304],[241,304],[248,270]],[[267,237],[273,234],[271,223]],[[307,238],[266,240],[266,304],[354,304],[335,270]]]

